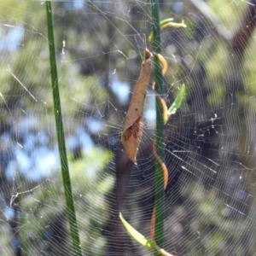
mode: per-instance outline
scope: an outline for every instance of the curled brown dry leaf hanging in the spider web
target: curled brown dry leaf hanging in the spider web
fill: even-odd
[[[124,130],[121,142],[124,145],[125,153],[136,164],[137,149],[143,135],[143,107],[146,96],[146,89],[151,73],[152,61],[151,52],[147,49],[146,38],[144,40],[144,60],[141,73],[125,118]]]

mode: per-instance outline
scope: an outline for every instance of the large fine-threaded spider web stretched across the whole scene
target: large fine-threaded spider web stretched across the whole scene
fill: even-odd
[[[174,255],[255,252],[255,1],[161,1],[168,106],[163,248]],[[73,200],[84,255],[152,255],[155,94],[148,84],[137,166],[120,136],[140,73],[148,1],[56,1],[55,47]],[[44,2],[1,3],[0,254],[75,255],[56,144]],[[148,43],[148,48],[152,46]]]

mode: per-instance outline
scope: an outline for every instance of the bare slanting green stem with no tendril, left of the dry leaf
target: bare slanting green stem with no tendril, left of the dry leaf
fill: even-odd
[[[62,123],[61,115],[61,98],[59,93],[59,84],[58,84],[58,73],[55,60],[55,39],[53,32],[53,20],[52,20],[52,11],[50,1],[46,1],[46,13],[47,13],[47,24],[48,24],[48,39],[49,39],[49,62],[50,62],[50,72],[51,72],[51,84],[53,91],[53,102],[54,102],[54,111],[55,111],[55,124],[56,132],[58,137],[58,146],[61,157],[61,174],[64,187],[64,193],[66,197],[67,205],[67,217],[70,227],[70,235],[73,241],[73,253],[74,255],[82,256],[82,251],[79,241],[79,229],[76,219],[75,208],[73,204],[73,194],[71,181],[68,170],[67,163],[67,151],[65,145],[65,137]]]

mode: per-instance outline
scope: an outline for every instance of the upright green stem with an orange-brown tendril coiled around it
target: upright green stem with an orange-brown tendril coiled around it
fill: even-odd
[[[158,0],[151,0],[152,3],[152,18],[153,18],[153,48],[154,52],[161,53],[161,41],[160,41],[160,18],[159,18],[159,2]],[[156,56],[154,56],[154,81],[155,90],[161,96],[164,94],[163,89],[163,76],[161,73],[160,62]],[[164,120],[162,115],[162,107],[160,100],[156,97],[156,131],[155,131],[155,145],[157,154],[160,159],[165,161],[165,148],[164,148]],[[162,167],[158,160],[155,161],[155,226],[154,236],[155,241],[159,247],[163,245],[164,236],[164,176]]]

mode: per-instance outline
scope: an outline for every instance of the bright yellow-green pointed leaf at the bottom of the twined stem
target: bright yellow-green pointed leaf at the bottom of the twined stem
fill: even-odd
[[[148,247],[154,253],[160,253],[160,255],[172,256],[172,254],[166,253],[164,249],[160,249],[160,247],[158,247],[154,241],[149,240],[148,238],[143,236],[140,232],[132,228],[131,225],[125,220],[125,218],[123,218],[123,215],[121,212],[119,212],[119,218],[121,219],[122,224],[124,224],[125,229],[128,231],[130,236],[132,236],[136,241],[138,241],[144,247]]]

